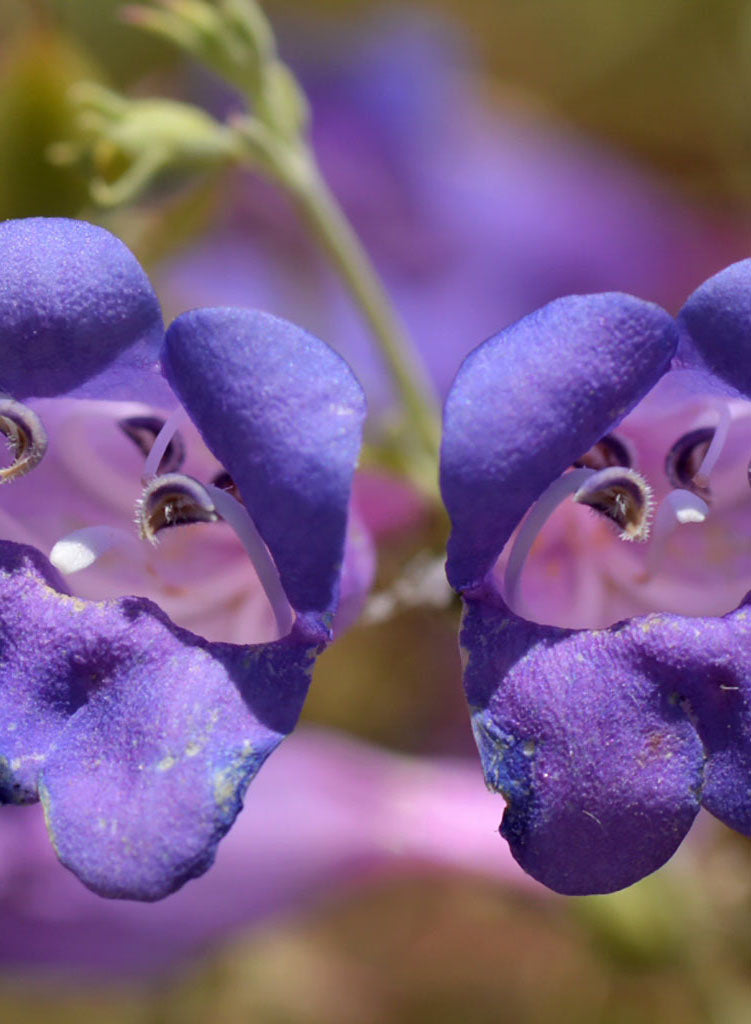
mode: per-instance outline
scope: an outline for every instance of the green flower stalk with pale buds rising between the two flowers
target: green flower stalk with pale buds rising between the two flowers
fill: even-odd
[[[360,308],[401,398],[407,429],[400,437],[399,466],[427,497],[437,500],[437,397],[376,268],[321,174],[307,133],[306,97],[279,59],[260,7],[254,0],[154,0],[124,7],[123,16],[214,71],[241,92],[248,112],[224,124],[185,104],[128,100],[109,92],[102,106],[106,90],[98,87],[92,118],[91,89],[79,87],[73,99],[88,141],[83,146],[62,143],[54,147],[53,158],[88,166],[91,198],[110,206],[132,202],[155,178],[173,169],[247,167],[285,189]],[[163,133],[158,123],[162,108]],[[175,114],[189,128],[177,138],[169,127]],[[97,166],[102,153],[108,168]],[[114,181],[108,180],[112,168],[119,175]]]

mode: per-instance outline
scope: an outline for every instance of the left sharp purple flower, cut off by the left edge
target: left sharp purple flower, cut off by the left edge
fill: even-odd
[[[328,346],[264,313],[194,310],[165,335],[145,274],[101,228],[7,221],[0,253],[4,482],[41,475],[55,445],[49,403],[30,401],[171,409],[166,427],[154,408],[119,421],[147,454],[141,531],[224,519],[281,634],[210,642],[143,597],[82,600],[34,547],[0,542],[0,799],[41,799],[57,855],[95,892],[159,899],[211,864],[331,639],[364,399]],[[180,472],[175,395],[222,467],[212,482]],[[78,529],[52,560],[78,567],[116,532]]]

